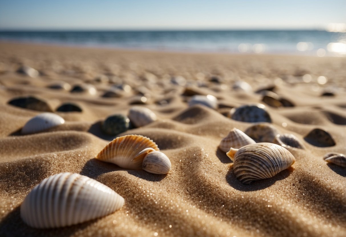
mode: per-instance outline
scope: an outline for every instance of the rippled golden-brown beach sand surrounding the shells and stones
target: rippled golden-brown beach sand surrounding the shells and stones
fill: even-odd
[[[21,65],[37,69],[31,78]],[[304,76],[309,74],[310,76]],[[132,91],[103,98],[112,83]],[[218,98],[219,108],[189,107],[184,85],[192,92]],[[219,83],[210,82],[210,77]],[[326,84],[324,78],[327,78]],[[311,81],[309,80],[311,79]],[[296,162],[276,176],[242,184],[233,163],[218,144],[237,127],[252,123],[226,116],[244,104],[263,103],[262,95],[235,91],[236,80],[253,91],[274,92],[294,107],[266,109],[280,133],[291,133],[306,149],[290,149]],[[50,89],[54,82],[90,83],[96,95]],[[346,236],[346,168],[327,164],[327,152],[346,154],[346,59],[303,56],[192,54],[73,48],[0,43],[0,236]],[[325,91],[335,96],[321,96]],[[101,131],[111,114],[127,114],[138,103],[158,120],[120,135],[153,139],[167,154],[167,175],[127,170],[95,159],[115,136]],[[191,91],[190,91],[191,92]],[[82,112],[56,112],[66,123],[45,132],[21,135],[20,129],[42,112],[8,105],[17,96],[35,95],[52,110],[74,102]],[[140,95],[141,96],[141,95]],[[139,97],[140,97],[139,96]],[[265,104],[265,103],[263,103]],[[311,130],[328,131],[335,146],[320,147],[303,138]],[[39,230],[20,219],[28,192],[53,174],[80,173],[107,185],[125,198],[120,210],[103,218],[65,228]]]

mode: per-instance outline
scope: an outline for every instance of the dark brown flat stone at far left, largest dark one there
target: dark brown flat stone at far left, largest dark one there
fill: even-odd
[[[52,108],[43,99],[37,98],[35,96],[21,96],[11,99],[8,104],[26,108],[28,110],[53,112]]]

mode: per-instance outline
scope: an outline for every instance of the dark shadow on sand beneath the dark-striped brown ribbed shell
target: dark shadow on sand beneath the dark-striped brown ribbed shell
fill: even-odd
[[[251,184],[243,184],[236,178],[234,174],[234,170],[233,170],[233,165],[232,165],[229,168],[228,173],[226,175],[226,181],[229,183],[230,186],[232,186],[233,188],[239,191],[244,191],[244,192],[257,191],[257,190],[268,188],[269,186],[271,186],[278,180],[287,178],[293,172],[293,170],[294,169],[292,167],[289,167],[288,169],[285,169],[279,172],[272,178],[256,180]]]

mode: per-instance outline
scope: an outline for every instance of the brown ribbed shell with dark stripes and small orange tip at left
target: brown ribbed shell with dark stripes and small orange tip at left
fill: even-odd
[[[274,143],[264,142],[249,144],[240,149],[231,148],[226,154],[233,160],[236,178],[244,184],[271,178],[295,162],[295,158],[286,148]]]

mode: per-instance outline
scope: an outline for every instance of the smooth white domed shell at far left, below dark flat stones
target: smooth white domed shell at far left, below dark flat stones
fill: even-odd
[[[65,123],[65,120],[54,113],[42,113],[31,118],[21,129],[22,134],[36,133]]]

